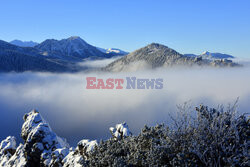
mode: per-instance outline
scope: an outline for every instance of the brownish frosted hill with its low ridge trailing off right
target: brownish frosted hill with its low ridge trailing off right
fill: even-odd
[[[203,58],[204,57],[204,58]],[[103,68],[111,72],[136,71],[141,69],[153,69],[157,67],[173,66],[238,66],[231,60],[210,60],[206,56],[197,57],[182,55],[167,46],[152,43],[138,49]]]

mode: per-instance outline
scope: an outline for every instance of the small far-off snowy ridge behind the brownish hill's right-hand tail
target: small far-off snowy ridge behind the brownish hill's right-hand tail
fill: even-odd
[[[195,55],[195,54],[184,54],[185,56],[190,56],[190,57],[202,57],[204,59],[233,59],[235,58],[232,55],[228,55],[228,54],[223,54],[223,53],[211,53],[208,51],[203,52],[200,55]]]

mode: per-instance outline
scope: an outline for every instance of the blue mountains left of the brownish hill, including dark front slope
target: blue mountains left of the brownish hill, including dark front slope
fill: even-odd
[[[62,40],[48,39],[40,44],[18,40],[11,43],[0,40],[0,72],[75,72],[86,69],[78,65],[84,60],[122,55],[103,53],[75,36]]]

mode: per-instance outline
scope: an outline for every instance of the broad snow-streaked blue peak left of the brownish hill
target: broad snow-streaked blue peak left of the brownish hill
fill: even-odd
[[[64,60],[81,61],[86,58],[108,58],[108,54],[101,52],[96,47],[88,44],[78,36],[67,39],[47,39],[35,46],[43,55],[50,55]]]

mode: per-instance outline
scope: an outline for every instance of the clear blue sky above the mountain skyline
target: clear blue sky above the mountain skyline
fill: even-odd
[[[250,0],[4,0],[0,22],[5,41],[80,36],[126,51],[158,42],[250,57]]]

